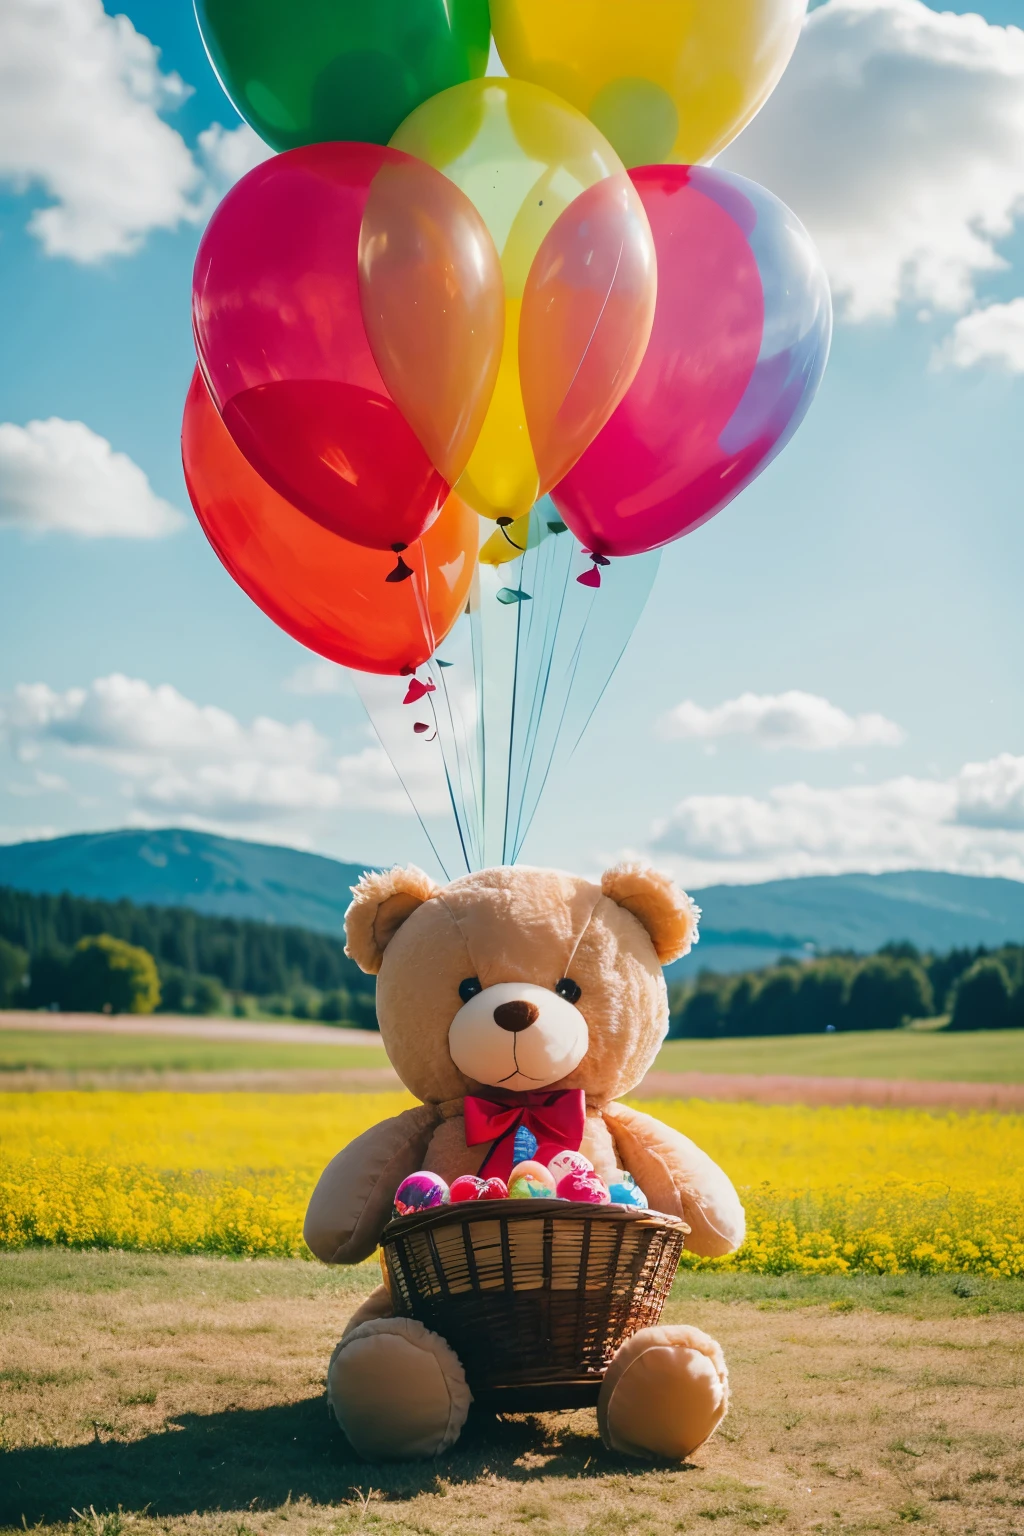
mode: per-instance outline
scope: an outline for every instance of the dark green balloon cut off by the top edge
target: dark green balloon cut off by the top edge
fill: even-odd
[[[387,144],[408,114],[487,71],[488,0],[195,0],[224,91],[273,149]]]

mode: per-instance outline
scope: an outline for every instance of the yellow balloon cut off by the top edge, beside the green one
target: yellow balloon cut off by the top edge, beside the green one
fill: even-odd
[[[763,108],[808,0],[491,0],[510,75],[565,97],[626,166],[720,154]]]

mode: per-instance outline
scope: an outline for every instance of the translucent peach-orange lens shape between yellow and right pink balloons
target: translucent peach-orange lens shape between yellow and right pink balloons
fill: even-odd
[[[543,238],[519,321],[519,378],[540,495],[586,452],[651,339],[657,258],[623,172],[571,203]]]

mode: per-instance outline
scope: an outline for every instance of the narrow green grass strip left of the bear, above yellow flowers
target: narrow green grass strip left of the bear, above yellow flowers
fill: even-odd
[[[0,1029],[0,1072],[282,1072],[385,1068],[379,1044],[264,1044]]]

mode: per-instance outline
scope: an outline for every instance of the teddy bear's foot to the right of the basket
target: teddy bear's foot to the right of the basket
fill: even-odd
[[[728,1407],[729,1376],[712,1338],[689,1327],[643,1329],[608,1367],[597,1424],[609,1450],[685,1461]]]

